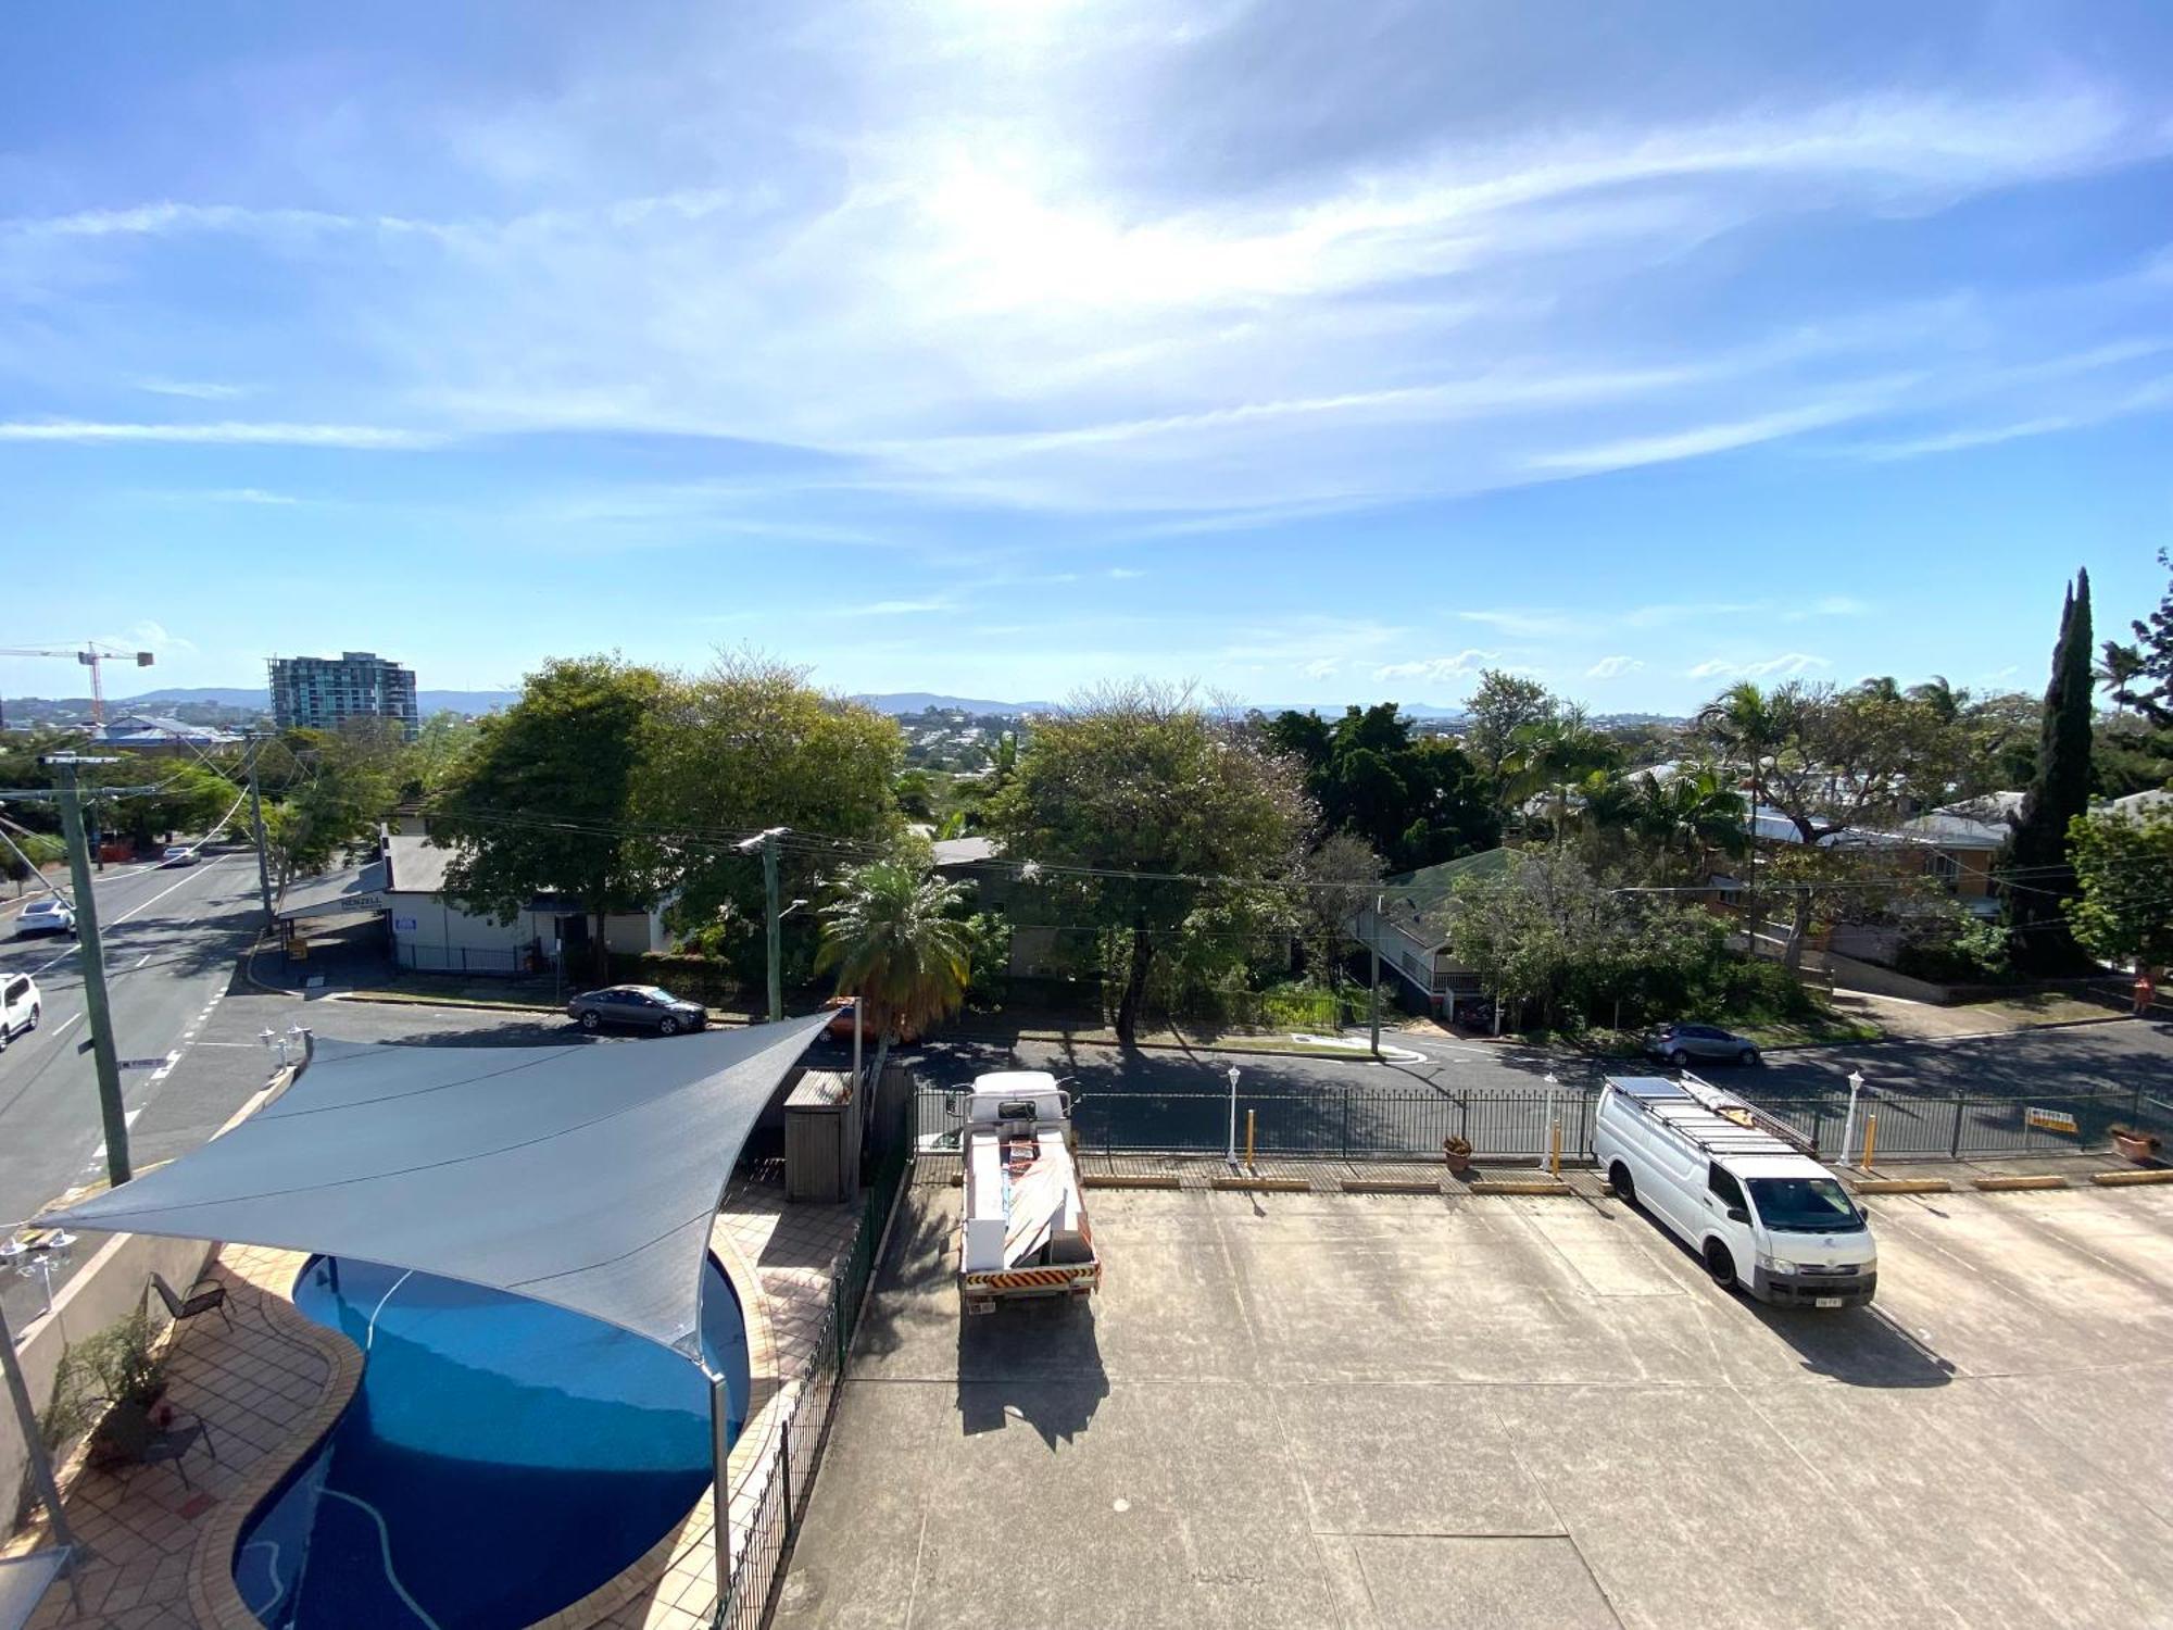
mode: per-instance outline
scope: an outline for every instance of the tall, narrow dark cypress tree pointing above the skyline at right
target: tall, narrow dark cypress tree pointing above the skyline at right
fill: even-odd
[[[2034,974],[2060,974],[2086,961],[2064,902],[2075,893],[2075,869],[2067,858],[2069,824],[2090,806],[2093,650],[2090,574],[2077,572],[2060,606],[2060,637],[2051,650],[2038,774],[2023,793],[1999,856],[2014,963]]]

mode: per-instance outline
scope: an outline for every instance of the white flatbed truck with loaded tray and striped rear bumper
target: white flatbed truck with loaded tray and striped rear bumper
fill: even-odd
[[[993,1313],[1013,1297],[1093,1295],[1102,1258],[1071,1158],[1071,1095],[1043,1069],[1002,1069],[978,1076],[958,1113],[965,1311]]]

